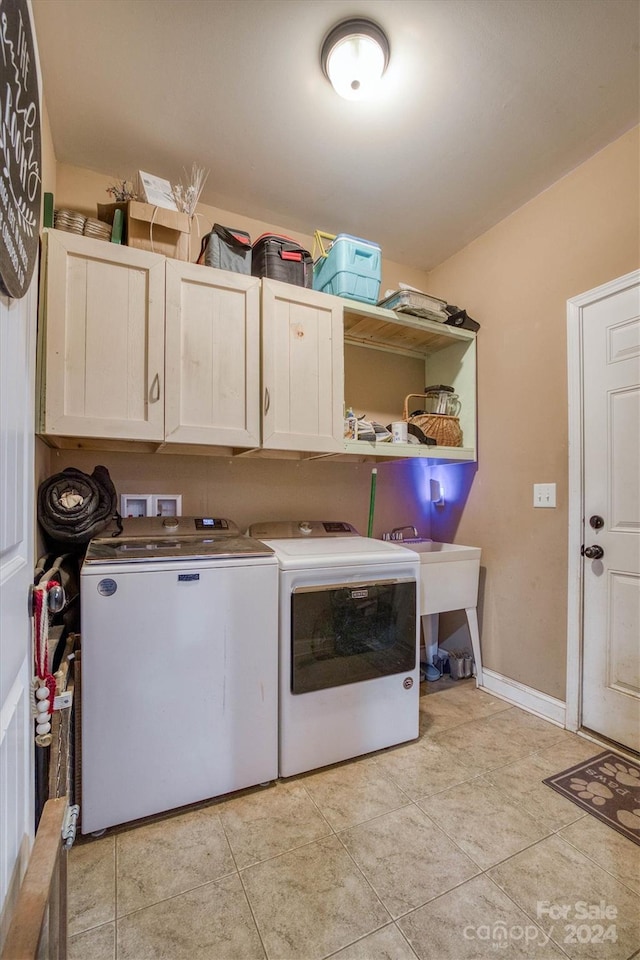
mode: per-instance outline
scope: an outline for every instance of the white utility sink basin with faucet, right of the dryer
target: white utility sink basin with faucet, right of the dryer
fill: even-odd
[[[420,555],[420,612],[423,616],[476,606],[480,547],[422,539],[406,539],[401,544]]]

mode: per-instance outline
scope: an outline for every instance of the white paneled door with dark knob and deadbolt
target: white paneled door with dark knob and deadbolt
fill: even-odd
[[[582,299],[582,726],[640,750],[640,274]]]

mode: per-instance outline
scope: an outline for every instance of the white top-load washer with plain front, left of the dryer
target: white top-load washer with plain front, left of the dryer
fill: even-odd
[[[83,833],[278,775],[273,551],[216,517],[122,526],[81,570]]]

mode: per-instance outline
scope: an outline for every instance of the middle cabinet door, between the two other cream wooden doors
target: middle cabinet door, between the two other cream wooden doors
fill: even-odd
[[[260,444],[260,280],[167,260],[165,434]]]

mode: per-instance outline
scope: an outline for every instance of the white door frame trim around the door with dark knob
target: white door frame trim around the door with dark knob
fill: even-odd
[[[638,283],[634,270],[567,300],[567,378],[569,393],[569,575],[567,587],[567,703],[568,730],[582,725],[582,609],[583,562],[580,555],[584,528],[584,444],[582,340],[584,308]]]

